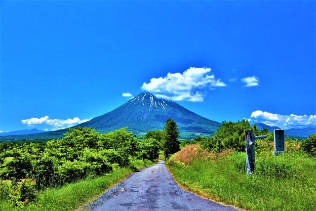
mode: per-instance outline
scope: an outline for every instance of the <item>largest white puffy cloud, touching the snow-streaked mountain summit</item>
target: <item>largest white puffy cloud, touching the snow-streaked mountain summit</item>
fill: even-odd
[[[152,92],[160,98],[202,102],[205,88],[226,86],[220,79],[215,80],[214,75],[208,74],[210,71],[210,68],[190,67],[182,74],[168,73],[163,78],[153,78],[150,83],[144,83],[141,89]]]

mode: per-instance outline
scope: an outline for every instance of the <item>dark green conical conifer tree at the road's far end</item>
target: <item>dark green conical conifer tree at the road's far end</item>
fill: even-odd
[[[167,119],[163,127],[161,146],[164,151],[164,157],[168,158],[170,155],[180,151],[180,142],[178,141],[180,132],[176,122],[170,118]]]

